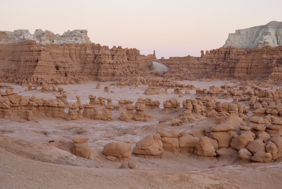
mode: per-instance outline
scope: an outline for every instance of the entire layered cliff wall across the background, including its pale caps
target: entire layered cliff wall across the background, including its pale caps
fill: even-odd
[[[205,53],[201,51],[201,57],[159,60],[155,54],[140,55],[135,48],[113,46],[109,49],[108,46],[92,43],[87,37],[87,30],[67,31],[63,35],[55,35],[48,30],[36,30],[33,35],[28,30],[1,31],[0,79],[16,83],[42,84],[44,81],[68,84],[89,79],[121,81],[126,78],[163,76],[175,80],[239,78],[277,82],[282,78],[280,24],[270,22],[265,26],[244,29],[242,35],[237,32],[238,36],[232,45],[228,43],[231,38],[228,38],[227,44],[219,49]],[[274,26],[277,26],[275,30]],[[275,31],[271,35],[267,32],[268,37],[276,37],[276,43],[271,43],[274,47],[256,46],[261,36],[269,39],[263,35],[269,28]],[[249,46],[243,48],[242,44]],[[153,62],[164,64],[168,71],[158,73],[154,70]]]

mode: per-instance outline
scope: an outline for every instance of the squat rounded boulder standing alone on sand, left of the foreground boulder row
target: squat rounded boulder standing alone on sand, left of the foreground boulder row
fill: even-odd
[[[107,143],[104,146],[103,155],[113,156],[117,162],[133,161],[131,157],[131,144],[127,142]]]

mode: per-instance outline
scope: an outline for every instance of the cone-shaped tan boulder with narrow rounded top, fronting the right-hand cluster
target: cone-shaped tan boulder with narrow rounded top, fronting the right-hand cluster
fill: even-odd
[[[201,156],[215,156],[215,149],[208,137],[201,137],[195,146],[194,154]]]

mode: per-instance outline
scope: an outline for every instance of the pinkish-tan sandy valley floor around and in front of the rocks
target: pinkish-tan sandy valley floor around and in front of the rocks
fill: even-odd
[[[212,85],[237,85],[226,81],[182,81],[196,88],[209,88]],[[191,95],[179,97],[168,89],[168,94],[144,95],[147,85],[110,86],[113,82],[97,82],[62,85],[67,91],[68,102],[75,103],[76,95],[81,103],[89,102],[88,95],[111,98],[113,104],[120,99],[136,102],[139,97],[152,98],[162,102],[172,97],[181,104]],[[239,82],[238,82],[239,83]],[[54,98],[59,92],[43,93],[39,89],[27,91],[27,87],[13,86],[14,91],[24,96]],[[113,92],[104,92],[109,86]],[[4,89],[1,89],[4,91]],[[22,92],[20,92],[22,91]],[[183,93],[185,91],[182,91]],[[222,100],[222,99],[221,99]],[[231,102],[232,99],[226,100]],[[160,106],[162,107],[162,106]],[[66,110],[67,112],[67,110]],[[252,163],[234,157],[201,157],[194,154],[165,153],[161,158],[133,159],[138,170],[118,169],[121,163],[111,162],[102,155],[105,144],[130,141],[135,143],[148,134],[158,131],[175,130],[189,132],[212,124],[208,119],[200,122],[172,127],[168,122],[159,124],[160,119],[178,117],[179,112],[164,114],[161,110],[149,111],[154,120],[151,122],[124,122],[117,120],[121,111],[113,111],[114,121],[82,120],[65,121],[47,117],[35,117],[32,121],[19,122],[20,119],[0,119],[0,188],[280,188],[282,186],[282,163]],[[89,145],[95,150],[94,160],[76,157],[66,151],[47,145],[51,139],[71,140],[75,137],[89,137]],[[211,165],[227,165],[208,169]]]

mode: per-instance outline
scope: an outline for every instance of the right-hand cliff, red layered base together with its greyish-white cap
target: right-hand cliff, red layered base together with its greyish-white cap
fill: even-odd
[[[159,62],[179,79],[242,78],[281,80],[282,22],[236,30],[223,47],[201,51],[201,57],[170,57]]]

